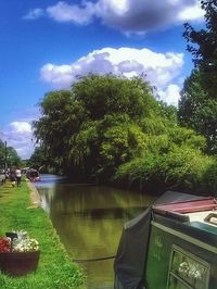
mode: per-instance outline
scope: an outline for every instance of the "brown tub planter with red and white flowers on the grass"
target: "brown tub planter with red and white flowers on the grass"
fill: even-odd
[[[35,272],[39,261],[39,246],[27,231],[7,233],[0,238],[0,269],[11,276],[24,276]]]

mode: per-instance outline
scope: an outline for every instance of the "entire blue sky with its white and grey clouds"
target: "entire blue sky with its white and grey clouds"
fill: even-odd
[[[28,159],[44,95],[88,73],[143,75],[177,105],[193,67],[183,23],[203,21],[199,0],[1,0],[0,139]]]

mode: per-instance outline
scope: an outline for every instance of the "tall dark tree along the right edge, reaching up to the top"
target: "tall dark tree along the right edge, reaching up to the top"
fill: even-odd
[[[217,152],[217,1],[201,1],[205,10],[205,27],[195,30],[186,24],[183,36],[193,54],[195,68],[184,81],[179,102],[181,125],[205,136],[206,151]]]

